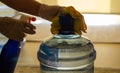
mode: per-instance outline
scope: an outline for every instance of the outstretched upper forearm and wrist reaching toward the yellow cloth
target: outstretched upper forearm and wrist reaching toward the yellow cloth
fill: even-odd
[[[62,9],[60,6],[48,6],[35,0],[1,0],[9,7],[28,14],[51,20]]]

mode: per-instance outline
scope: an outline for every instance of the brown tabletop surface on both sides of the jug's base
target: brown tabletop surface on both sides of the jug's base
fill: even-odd
[[[15,73],[40,73],[40,68],[37,66],[17,66]],[[95,68],[95,73],[120,73],[120,69]]]

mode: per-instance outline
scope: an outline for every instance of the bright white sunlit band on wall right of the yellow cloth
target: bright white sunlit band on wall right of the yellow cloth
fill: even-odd
[[[92,26],[110,26],[120,24],[120,15],[115,14],[83,14],[86,24]]]

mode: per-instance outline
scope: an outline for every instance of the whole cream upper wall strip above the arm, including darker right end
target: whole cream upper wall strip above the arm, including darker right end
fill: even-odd
[[[120,0],[37,0],[49,5],[74,6],[84,13],[120,13]]]

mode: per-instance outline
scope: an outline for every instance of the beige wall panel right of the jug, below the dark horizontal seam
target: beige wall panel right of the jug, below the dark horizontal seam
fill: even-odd
[[[94,43],[97,52],[95,67],[120,69],[119,43]]]

